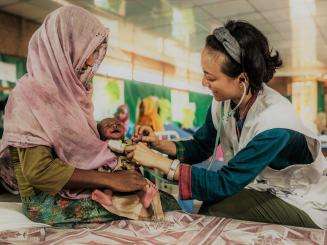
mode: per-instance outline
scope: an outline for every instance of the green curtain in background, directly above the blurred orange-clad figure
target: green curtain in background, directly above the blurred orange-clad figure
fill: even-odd
[[[168,99],[171,101],[169,88],[128,80],[124,81],[124,95],[125,103],[130,109],[130,117],[133,123],[135,123],[137,104],[142,99],[148,96],[156,96],[159,99]]]

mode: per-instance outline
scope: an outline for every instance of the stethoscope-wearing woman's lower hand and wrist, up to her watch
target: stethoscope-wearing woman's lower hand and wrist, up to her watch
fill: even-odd
[[[145,167],[157,168],[167,174],[172,160],[153,152],[145,144],[126,146],[127,158]]]

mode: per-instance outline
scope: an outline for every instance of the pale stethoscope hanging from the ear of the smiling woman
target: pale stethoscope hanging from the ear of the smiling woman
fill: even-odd
[[[216,135],[216,141],[215,141],[215,149],[214,149],[213,155],[212,155],[212,157],[210,159],[208,170],[211,169],[212,164],[215,162],[215,158],[216,158],[216,154],[217,154],[217,148],[218,148],[218,144],[219,144],[219,140],[220,140],[220,132],[221,132],[222,125],[226,124],[228,122],[228,120],[232,116],[234,116],[236,110],[240,107],[240,105],[242,104],[242,102],[243,102],[243,100],[245,98],[247,88],[246,88],[246,84],[245,84],[244,81],[242,81],[242,85],[243,85],[242,97],[241,97],[240,101],[238,102],[238,104],[232,110],[225,113],[225,101],[223,101],[221,103],[220,117],[218,118],[219,124],[218,124],[218,127],[217,127],[217,135]]]

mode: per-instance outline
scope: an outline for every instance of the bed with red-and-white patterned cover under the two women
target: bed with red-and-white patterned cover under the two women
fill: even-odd
[[[327,244],[327,232],[168,212],[165,221],[114,221],[76,229],[31,222],[20,203],[0,203],[0,244]]]

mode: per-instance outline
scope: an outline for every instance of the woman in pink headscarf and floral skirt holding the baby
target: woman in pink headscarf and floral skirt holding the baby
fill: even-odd
[[[135,171],[96,171],[117,163],[93,117],[91,79],[107,38],[92,14],[65,6],[48,15],[30,40],[27,74],[6,106],[1,152],[10,150],[23,211],[33,221],[70,227],[121,219],[76,190],[134,192],[147,185]],[[172,197],[162,199],[164,210],[178,208]]]

